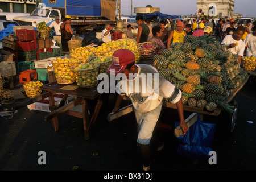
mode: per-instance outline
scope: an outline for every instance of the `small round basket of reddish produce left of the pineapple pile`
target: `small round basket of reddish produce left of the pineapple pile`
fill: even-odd
[[[141,58],[152,59],[155,55],[156,47],[152,42],[139,43],[138,47],[141,47]]]

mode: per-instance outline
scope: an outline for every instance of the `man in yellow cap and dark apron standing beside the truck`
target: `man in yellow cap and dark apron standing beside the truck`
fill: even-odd
[[[65,15],[64,23],[60,26],[60,32],[61,32],[61,46],[63,52],[68,52],[68,41],[71,40],[72,35],[75,35],[75,32],[73,32],[71,25],[71,16]]]

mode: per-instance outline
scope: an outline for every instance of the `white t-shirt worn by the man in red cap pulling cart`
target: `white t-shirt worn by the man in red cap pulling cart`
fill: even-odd
[[[116,86],[119,94],[126,94],[130,98],[135,110],[141,113],[154,110],[163,98],[168,98],[172,104],[180,100],[181,91],[158,74],[154,67],[147,64],[135,65],[138,67],[137,76],[133,80],[121,80]]]

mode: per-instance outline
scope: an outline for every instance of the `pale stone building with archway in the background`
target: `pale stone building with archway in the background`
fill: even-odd
[[[218,18],[233,16],[234,1],[232,0],[197,0],[197,11],[200,9],[201,15],[215,16]]]

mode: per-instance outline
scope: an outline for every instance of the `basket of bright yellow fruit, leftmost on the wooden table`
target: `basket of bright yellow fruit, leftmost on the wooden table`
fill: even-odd
[[[58,57],[56,61],[52,61],[52,67],[54,69],[56,81],[58,84],[72,84],[75,82],[74,72],[71,67],[78,65],[78,59],[72,59],[65,57],[61,59]]]

